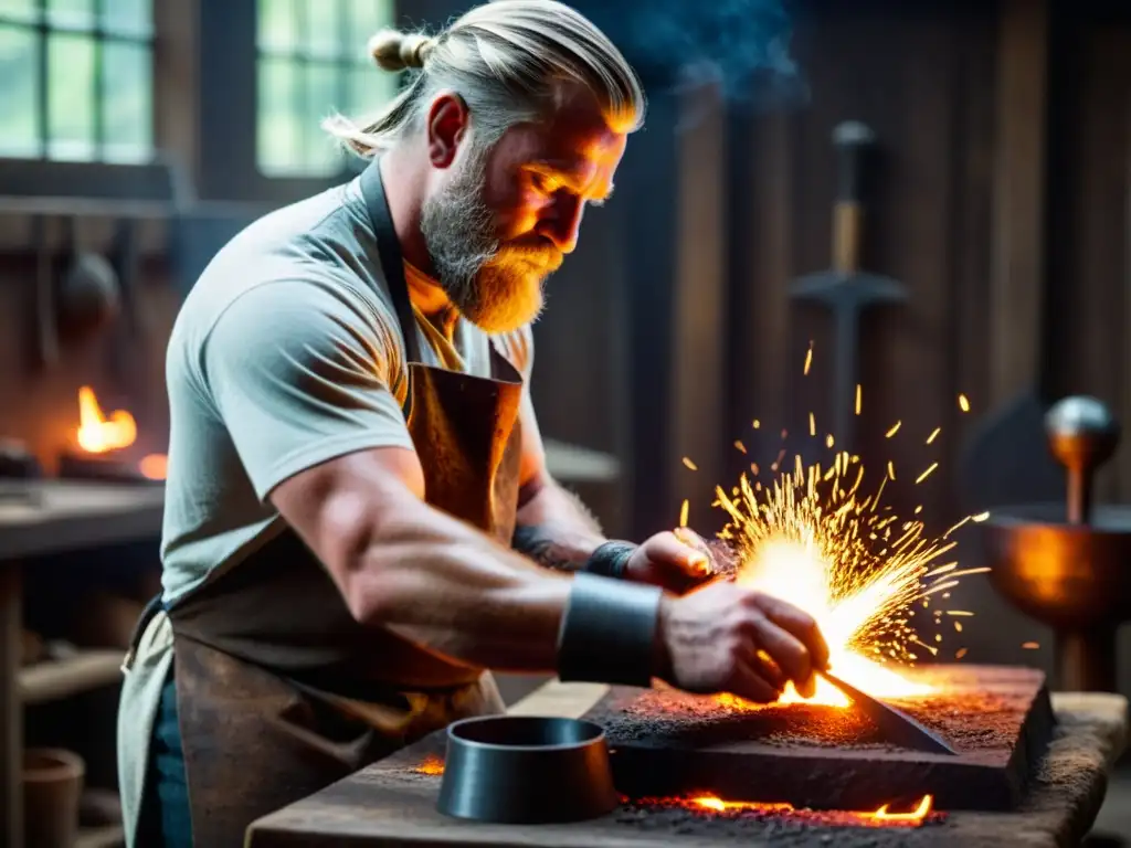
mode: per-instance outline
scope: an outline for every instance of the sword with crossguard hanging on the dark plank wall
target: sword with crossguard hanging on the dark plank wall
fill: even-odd
[[[832,268],[794,280],[789,296],[817,302],[832,313],[832,435],[841,449],[856,452],[853,418],[860,382],[861,317],[871,306],[906,301],[907,293],[889,277],[861,270],[864,159],[875,136],[863,123],[846,121],[834,130],[832,144],[840,161],[832,208]]]

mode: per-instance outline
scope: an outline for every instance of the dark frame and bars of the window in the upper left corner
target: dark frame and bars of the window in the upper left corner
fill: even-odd
[[[95,14],[101,11],[101,3],[109,0],[95,1]],[[159,0],[153,0],[153,31],[149,35],[150,55],[150,92],[152,92],[152,120],[150,129],[155,158],[148,163],[127,164],[115,162],[81,162],[67,159],[52,159],[49,157],[46,140],[44,149],[36,157],[8,157],[0,156],[0,185],[2,193],[7,198],[17,199],[40,199],[40,198],[81,198],[92,200],[143,200],[143,201],[172,201],[175,197],[175,179],[173,168],[167,161],[163,161],[162,138],[158,133],[159,122],[157,120],[158,102],[158,75],[157,52],[161,50],[163,33],[158,28],[157,5]],[[38,0],[41,15],[45,12],[45,1]],[[38,23],[28,24],[28,28],[36,29],[41,34],[57,32],[45,19]],[[68,28],[59,28],[58,32],[70,32]],[[100,27],[92,32],[97,37],[104,37]],[[113,38],[113,36],[111,36]],[[116,40],[116,38],[114,38]],[[127,41],[137,41],[127,38]],[[45,53],[41,54],[38,73],[46,70]],[[48,98],[48,83],[41,80],[40,107],[45,107]],[[46,121],[46,114],[40,116],[42,122]],[[101,130],[101,104],[98,114],[95,116],[96,133]]]

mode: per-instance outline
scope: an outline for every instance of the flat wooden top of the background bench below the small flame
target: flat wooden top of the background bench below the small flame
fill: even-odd
[[[5,482],[0,562],[161,535],[165,487],[71,481]]]

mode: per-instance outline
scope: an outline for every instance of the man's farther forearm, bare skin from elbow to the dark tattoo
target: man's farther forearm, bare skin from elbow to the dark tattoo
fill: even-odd
[[[535,484],[518,511],[515,551],[556,571],[576,571],[606,542],[579,497],[546,477]]]

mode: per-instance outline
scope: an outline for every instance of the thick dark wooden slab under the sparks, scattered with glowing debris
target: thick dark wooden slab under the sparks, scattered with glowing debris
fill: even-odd
[[[1043,673],[974,665],[908,674],[932,685],[892,703],[958,755],[895,746],[853,708],[750,710],[674,691],[614,689],[586,718],[605,728],[616,788],[631,797],[710,790],[818,810],[934,796],[944,810],[1010,810],[1053,734]]]

